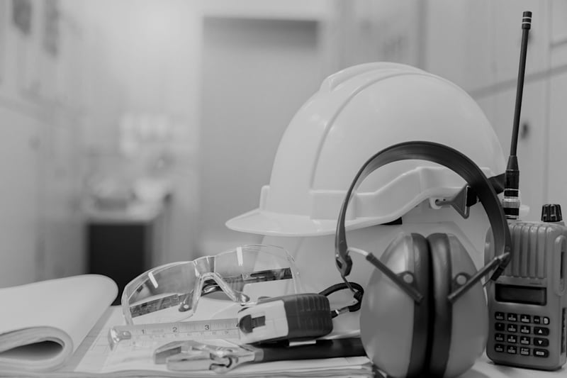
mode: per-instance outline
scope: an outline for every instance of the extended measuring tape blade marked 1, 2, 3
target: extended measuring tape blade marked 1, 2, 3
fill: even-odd
[[[184,321],[176,323],[138,324],[135,326],[114,326],[108,331],[111,348],[123,340],[238,340],[238,319],[213,319],[210,321]]]

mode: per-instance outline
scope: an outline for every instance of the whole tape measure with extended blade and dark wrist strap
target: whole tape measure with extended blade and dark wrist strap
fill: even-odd
[[[319,294],[291,294],[260,299],[242,308],[237,318],[210,321],[181,321],[175,323],[114,326],[108,332],[108,343],[114,348],[124,340],[135,343],[175,340],[240,340],[241,343],[273,343],[284,340],[308,340],[332,331],[332,318],[339,313],[358,311],[364,289],[349,282],[357,303],[338,310],[330,309],[327,296],[349,288],[336,284]]]

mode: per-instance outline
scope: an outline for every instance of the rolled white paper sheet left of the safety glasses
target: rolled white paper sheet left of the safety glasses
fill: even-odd
[[[97,274],[0,289],[0,367],[62,365],[117,294],[113,280]]]

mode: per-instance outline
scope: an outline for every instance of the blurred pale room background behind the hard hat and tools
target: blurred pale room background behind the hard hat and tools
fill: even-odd
[[[259,241],[225,221],[258,206],[293,114],[350,65],[459,84],[507,151],[524,10],[520,186],[537,219],[567,204],[565,1],[1,0],[0,287]]]

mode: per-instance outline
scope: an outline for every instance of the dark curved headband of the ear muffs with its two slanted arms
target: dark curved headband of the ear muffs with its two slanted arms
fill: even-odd
[[[488,215],[488,221],[490,221],[494,238],[496,257],[492,262],[485,265],[483,269],[479,270],[471,277],[466,284],[451,293],[451,301],[456,300],[458,296],[472,287],[474,283],[478,282],[495,267],[495,272],[490,279],[497,279],[510,261],[511,238],[504,211],[502,206],[500,206],[500,201],[494,188],[478,165],[466,157],[466,155],[447,145],[424,141],[398,143],[377,152],[364,163],[354,177],[347,191],[347,196],[345,196],[342,203],[339,218],[337,219],[337,233],[335,234],[335,260],[342,277],[346,277],[352,267],[352,259],[349,256],[347,245],[347,233],[344,227],[344,220],[347,216],[347,206],[352,193],[358,189],[361,182],[376,169],[388,163],[400,160],[427,160],[451,169],[465,179],[468,186],[471,187],[476,196],[478,196],[478,199],[480,199]],[[383,265],[374,255],[369,254],[366,258],[370,260],[373,265],[376,265],[378,269],[381,269],[384,274],[393,279],[400,288],[404,289],[416,301],[420,300],[420,294],[415,293],[414,287],[404,282],[403,279],[400,279],[398,275],[392,272],[386,265]]]

